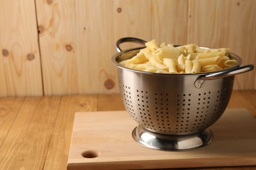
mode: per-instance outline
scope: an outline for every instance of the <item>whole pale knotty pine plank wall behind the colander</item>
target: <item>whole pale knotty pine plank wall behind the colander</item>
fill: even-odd
[[[256,65],[255,0],[2,0],[0,22],[1,97],[118,93],[121,37],[228,47]],[[256,89],[256,71],[234,89]]]

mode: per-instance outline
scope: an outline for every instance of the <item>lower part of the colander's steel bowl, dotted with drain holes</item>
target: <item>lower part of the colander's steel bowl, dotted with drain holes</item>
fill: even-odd
[[[125,109],[142,127],[167,135],[197,133],[215,123],[226,108],[230,88],[169,92],[119,82]]]

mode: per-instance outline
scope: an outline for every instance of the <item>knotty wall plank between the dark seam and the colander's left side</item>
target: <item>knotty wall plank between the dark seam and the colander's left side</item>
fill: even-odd
[[[46,95],[117,90],[112,10],[113,1],[37,1]]]

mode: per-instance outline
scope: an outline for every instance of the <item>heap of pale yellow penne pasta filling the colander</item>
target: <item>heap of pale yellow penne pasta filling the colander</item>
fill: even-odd
[[[158,45],[156,40],[145,45],[136,56],[119,64],[153,73],[196,74],[220,71],[237,63],[228,57],[228,48],[200,48],[196,44],[173,46],[164,42]]]

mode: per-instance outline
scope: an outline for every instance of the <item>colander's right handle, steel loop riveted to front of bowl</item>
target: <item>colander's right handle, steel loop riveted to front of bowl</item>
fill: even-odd
[[[211,74],[208,74],[208,75],[199,76],[196,79],[196,82],[194,83],[194,86],[196,86],[196,88],[202,88],[205,80],[215,80],[215,79],[218,79],[218,78],[224,78],[226,76],[234,76],[234,75],[238,75],[238,74],[241,74],[241,73],[245,73],[247,71],[251,71],[251,70],[253,70],[253,68],[254,68],[254,65],[249,64],[249,65],[244,65],[244,66],[241,66],[241,67],[234,67],[232,69],[227,69],[225,71],[220,71],[220,72],[217,72],[217,73],[211,73]]]

